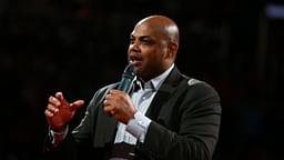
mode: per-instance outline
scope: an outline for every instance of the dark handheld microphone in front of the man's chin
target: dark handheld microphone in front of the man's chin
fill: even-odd
[[[122,78],[118,89],[129,93],[135,79],[136,71],[134,70],[134,66],[129,63],[122,73]]]

